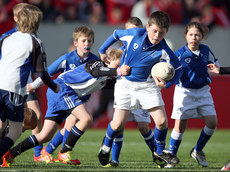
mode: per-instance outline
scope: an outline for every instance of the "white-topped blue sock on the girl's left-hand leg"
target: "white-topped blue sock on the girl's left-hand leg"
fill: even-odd
[[[170,137],[169,150],[175,156],[177,155],[177,151],[180,147],[183,135],[184,133],[178,133],[174,129],[172,130],[171,137]]]

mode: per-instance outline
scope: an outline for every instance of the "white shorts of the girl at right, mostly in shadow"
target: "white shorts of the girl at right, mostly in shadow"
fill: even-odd
[[[200,89],[176,86],[173,104],[172,119],[200,119],[204,116],[216,115],[208,85]]]

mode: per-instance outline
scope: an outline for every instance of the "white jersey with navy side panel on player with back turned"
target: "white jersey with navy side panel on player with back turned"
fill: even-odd
[[[0,89],[24,96],[31,71],[46,71],[46,55],[41,41],[19,31],[1,42]]]

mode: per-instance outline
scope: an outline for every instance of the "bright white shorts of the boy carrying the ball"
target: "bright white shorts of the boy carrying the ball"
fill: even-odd
[[[117,79],[114,90],[114,108],[134,110],[163,106],[161,89],[154,81],[133,82],[125,77]]]

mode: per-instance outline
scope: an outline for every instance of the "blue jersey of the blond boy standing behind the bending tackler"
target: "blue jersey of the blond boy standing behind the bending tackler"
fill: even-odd
[[[84,60],[82,60],[78,54],[77,50],[74,50],[70,53],[66,53],[63,56],[59,57],[57,60],[55,60],[49,67],[48,67],[48,73],[53,76],[59,72],[65,72],[68,70],[73,70],[77,66],[86,63],[91,60],[99,59],[96,55],[93,53],[89,53],[88,57]]]

